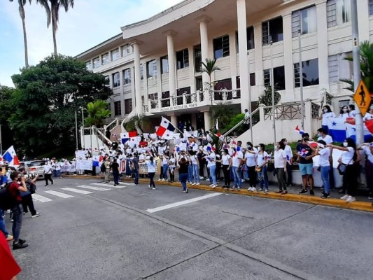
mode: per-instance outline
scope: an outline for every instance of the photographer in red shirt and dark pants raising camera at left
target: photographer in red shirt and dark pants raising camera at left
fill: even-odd
[[[7,192],[10,197],[10,210],[12,211],[12,217],[13,217],[13,250],[26,248],[28,245],[25,244],[26,241],[23,239],[20,239],[20,233],[22,228],[22,197],[20,195],[21,192],[27,192],[27,186],[26,186],[26,176],[22,176],[20,172],[12,172],[10,174],[10,180],[12,180],[11,183],[6,186]],[[20,182],[20,184],[19,184]]]

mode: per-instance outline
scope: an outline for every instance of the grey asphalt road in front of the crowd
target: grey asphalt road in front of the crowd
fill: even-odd
[[[371,213],[99,181],[39,181],[18,279],[373,278]]]

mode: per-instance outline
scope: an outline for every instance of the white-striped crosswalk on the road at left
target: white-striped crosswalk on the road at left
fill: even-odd
[[[108,183],[90,183],[89,186],[77,185],[73,188],[38,191],[38,193],[34,193],[32,197],[34,198],[34,202],[45,203],[51,202],[56,198],[69,199],[71,197],[74,197],[76,194],[90,195],[94,193],[94,191],[105,192],[108,190],[113,190],[114,188],[127,188],[128,186],[134,186],[134,183],[120,183],[119,186],[113,186],[113,184]]]

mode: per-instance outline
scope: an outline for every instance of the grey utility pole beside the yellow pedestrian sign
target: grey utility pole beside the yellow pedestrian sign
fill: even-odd
[[[359,24],[358,24],[358,3],[357,0],[351,0],[351,26],[352,26],[352,57],[353,57],[353,87],[356,92],[360,83],[360,45],[359,45]],[[356,108],[356,144],[364,143],[363,116],[361,116],[358,104]]]

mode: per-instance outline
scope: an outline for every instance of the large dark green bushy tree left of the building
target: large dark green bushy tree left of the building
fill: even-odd
[[[84,62],[62,55],[47,57],[12,78],[17,88],[10,125],[15,141],[27,154],[56,147],[71,150],[76,141],[75,111],[113,94],[104,76],[88,71]]]

